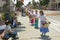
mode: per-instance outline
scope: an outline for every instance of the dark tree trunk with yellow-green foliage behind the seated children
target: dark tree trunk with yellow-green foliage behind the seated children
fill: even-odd
[[[5,2],[3,5],[4,14],[2,15],[2,19],[11,21],[13,14],[10,11],[10,1],[5,0]]]

